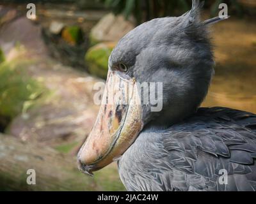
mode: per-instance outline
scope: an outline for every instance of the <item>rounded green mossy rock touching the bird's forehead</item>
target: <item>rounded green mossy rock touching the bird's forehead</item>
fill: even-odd
[[[88,71],[97,77],[106,79],[108,73],[108,57],[115,43],[99,43],[91,47],[85,55]]]

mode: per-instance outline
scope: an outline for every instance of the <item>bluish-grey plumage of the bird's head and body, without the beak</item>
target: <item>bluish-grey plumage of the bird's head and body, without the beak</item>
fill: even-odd
[[[163,82],[163,110],[142,105],[145,127],[118,160],[129,191],[256,190],[256,115],[199,108],[214,73],[208,27],[200,1],[180,17],[156,18],[128,33],[109,57],[120,77]],[[220,170],[228,184],[220,184]]]

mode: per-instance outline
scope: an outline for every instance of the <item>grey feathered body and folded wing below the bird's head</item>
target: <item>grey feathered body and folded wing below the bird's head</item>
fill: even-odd
[[[255,191],[255,159],[256,115],[216,107],[142,131],[118,166],[129,191]]]

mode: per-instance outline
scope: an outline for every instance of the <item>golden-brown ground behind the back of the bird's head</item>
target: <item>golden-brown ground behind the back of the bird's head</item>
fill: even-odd
[[[230,17],[212,27],[216,75],[203,106],[256,113],[256,24]]]

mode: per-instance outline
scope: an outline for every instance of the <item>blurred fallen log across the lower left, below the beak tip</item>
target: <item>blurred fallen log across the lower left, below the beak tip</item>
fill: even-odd
[[[35,185],[27,183],[29,169],[35,170]],[[74,156],[0,134],[0,191],[124,190],[115,171],[110,166],[88,177],[77,170]]]

